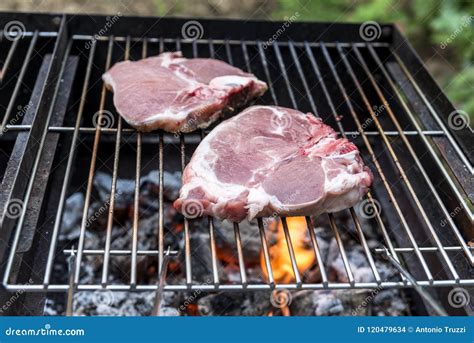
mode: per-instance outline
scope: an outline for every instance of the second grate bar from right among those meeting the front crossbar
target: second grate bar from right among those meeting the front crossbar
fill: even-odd
[[[358,116],[357,116],[357,114],[356,114],[356,112],[355,112],[355,110],[354,110],[354,107],[352,106],[352,103],[351,103],[351,100],[350,100],[350,98],[349,98],[349,96],[348,96],[348,94],[347,94],[346,88],[344,87],[344,85],[342,84],[341,79],[339,78],[339,75],[338,75],[338,72],[337,72],[336,67],[335,67],[335,65],[334,65],[334,62],[333,62],[331,56],[329,55],[329,52],[327,51],[327,48],[326,48],[326,46],[325,46],[324,44],[321,45],[321,49],[322,49],[324,58],[325,58],[326,62],[327,62],[328,65],[329,65],[329,69],[331,70],[331,73],[332,73],[332,75],[334,76],[334,79],[336,80],[336,83],[337,83],[337,85],[338,85],[338,87],[339,87],[339,90],[341,91],[342,96],[344,97],[344,101],[345,101],[345,103],[347,104],[347,106],[348,106],[348,108],[349,108],[349,112],[350,112],[352,118],[354,119],[354,121],[355,121],[355,123],[356,123],[356,125],[357,125],[357,128],[360,130],[360,132],[361,132],[361,134],[362,134],[361,137],[362,137],[362,139],[364,140],[364,144],[365,144],[365,146],[366,146],[366,148],[367,148],[367,150],[368,150],[368,152],[369,152],[369,154],[370,154],[370,156],[371,156],[371,158],[372,158],[372,161],[373,161],[373,163],[374,163],[374,165],[375,165],[375,168],[377,169],[377,172],[379,173],[380,178],[381,178],[381,180],[382,180],[382,182],[383,182],[383,184],[384,184],[384,186],[385,186],[385,188],[386,188],[386,190],[387,190],[387,193],[388,193],[388,195],[389,195],[389,197],[390,197],[390,200],[391,200],[391,202],[392,202],[392,204],[393,204],[393,206],[394,206],[394,209],[395,209],[395,211],[397,212],[398,218],[400,219],[400,221],[401,221],[401,223],[402,223],[402,225],[403,225],[403,228],[405,229],[405,231],[406,231],[406,233],[407,233],[407,235],[408,235],[408,238],[409,238],[409,240],[410,240],[410,243],[411,243],[411,244],[413,245],[413,247],[415,248],[417,257],[418,257],[418,259],[419,259],[419,261],[420,261],[420,263],[421,263],[421,266],[422,266],[422,268],[423,268],[423,271],[425,272],[425,274],[426,274],[428,280],[429,280],[430,282],[432,282],[432,281],[433,281],[433,276],[432,276],[432,274],[431,274],[431,272],[430,272],[430,270],[429,270],[429,268],[428,268],[428,265],[427,265],[427,263],[426,263],[426,260],[425,260],[425,258],[423,257],[423,255],[421,254],[421,252],[420,252],[420,250],[419,250],[419,248],[418,248],[418,244],[416,243],[416,240],[415,240],[415,238],[414,238],[414,236],[413,236],[413,232],[411,231],[410,227],[408,226],[408,223],[407,223],[407,221],[406,221],[406,219],[405,219],[405,216],[403,215],[403,213],[402,213],[402,211],[401,211],[401,209],[400,209],[400,206],[398,205],[398,202],[397,202],[397,200],[396,200],[396,198],[395,198],[395,196],[394,196],[394,194],[393,194],[393,191],[392,191],[392,189],[391,189],[391,187],[390,187],[390,185],[389,185],[389,183],[388,183],[388,181],[387,181],[387,178],[385,177],[385,174],[384,174],[384,172],[383,172],[383,170],[382,170],[382,167],[381,167],[379,161],[377,160],[377,158],[376,158],[376,156],[375,156],[374,150],[372,149],[372,145],[370,144],[370,142],[369,142],[369,140],[367,139],[367,137],[364,135],[364,128],[362,127],[362,125],[361,125],[361,123],[360,123],[360,120],[359,120],[359,118],[358,118]],[[372,197],[371,197],[371,198],[372,198]],[[373,199],[372,199],[372,200],[373,200]],[[372,205],[374,206],[373,203],[372,203]],[[374,207],[374,208],[376,208],[376,207]]]

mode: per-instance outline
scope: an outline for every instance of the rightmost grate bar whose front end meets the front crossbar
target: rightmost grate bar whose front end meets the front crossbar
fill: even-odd
[[[373,108],[371,107],[371,104],[367,98],[367,95],[365,94],[364,90],[362,89],[362,86],[360,85],[360,82],[359,80],[357,79],[346,55],[344,54],[344,51],[342,50],[342,48],[340,46],[337,47],[337,50],[339,52],[339,55],[341,56],[342,58],[342,61],[344,63],[344,65],[346,66],[347,68],[347,71],[349,72],[349,75],[351,76],[352,80],[354,81],[355,85],[356,85],[356,88],[359,92],[359,94],[362,96],[362,99],[367,107],[367,110],[369,111],[370,113],[370,116],[372,117],[372,119],[374,120],[374,123],[375,125],[377,126],[377,129],[379,129],[381,132],[383,131],[382,129],[382,126],[380,124],[380,121],[378,120],[377,116],[375,115],[374,111],[373,111]],[[357,50],[356,50],[357,51]],[[356,52],[357,53],[357,52]],[[370,78],[369,78],[370,79]],[[372,81],[372,79],[370,79]],[[376,85],[376,84],[375,84]],[[376,88],[377,90],[377,88]],[[378,89],[378,91],[380,91],[380,89]],[[382,97],[382,100],[383,101],[386,101],[385,98]],[[387,105],[387,110],[390,108],[390,106],[388,105],[387,102],[385,102]],[[403,136],[403,135],[402,135]],[[416,195],[416,192],[415,190],[413,189],[413,186],[411,184],[411,182],[408,180],[408,177],[405,173],[405,170],[403,169],[402,165],[400,164],[400,161],[397,157],[397,154],[395,153],[395,150],[393,149],[392,147],[392,144],[390,143],[390,141],[388,140],[388,138],[382,134],[382,139],[385,143],[385,146],[387,147],[392,159],[393,159],[393,162],[395,163],[395,165],[397,166],[397,169],[398,171],[400,172],[400,176],[402,177],[403,181],[405,182],[405,185],[407,186],[413,200],[415,201],[416,203],[416,206],[420,212],[420,214],[422,215],[433,239],[435,240],[436,242],[436,245],[440,248],[440,252],[441,252],[441,255],[443,256],[443,259],[445,260],[451,274],[453,275],[454,279],[459,281],[459,275],[457,273],[457,271],[454,269],[454,266],[451,262],[451,260],[449,259],[448,255],[446,254],[446,252],[442,249],[442,243],[439,239],[439,236],[436,234],[436,231],[434,230],[433,228],[433,225],[431,224],[426,212],[425,212],[425,209],[423,207],[423,205],[421,205],[420,203],[420,200],[418,198],[418,196]],[[415,159],[416,160],[416,159]]]

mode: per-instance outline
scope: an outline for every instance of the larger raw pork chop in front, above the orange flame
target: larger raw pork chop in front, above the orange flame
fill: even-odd
[[[312,114],[253,106],[201,142],[174,207],[235,222],[318,215],[353,206],[372,179],[357,147]]]

